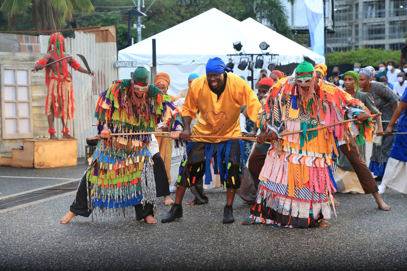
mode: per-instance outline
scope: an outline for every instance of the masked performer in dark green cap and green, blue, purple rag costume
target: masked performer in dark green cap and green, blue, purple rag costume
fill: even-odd
[[[150,134],[110,136],[111,133],[154,132],[158,118],[178,139],[183,130],[181,108],[154,85],[147,69],[137,68],[131,79],[116,80],[98,98],[95,117],[101,136],[94,154],[88,159],[76,199],[61,223],[72,217],[105,215],[107,210],[129,215],[133,206],[136,219],[157,223],[155,180],[149,145]],[[175,140],[175,147],[183,141]],[[168,185],[168,183],[166,184]],[[130,210],[126,210],[130,209]],[[122,211],[120,211],[122,210]]]

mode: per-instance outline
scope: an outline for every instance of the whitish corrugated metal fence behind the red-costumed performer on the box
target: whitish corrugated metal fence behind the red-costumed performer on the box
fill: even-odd
[[[49,36],[40,36],[41,53],[43,54],[46,54],[48,39]],[[84,157],[86,138],[96,134],[96,127],[92,127],[92,123],[96,123],[94,118],[96,100],[99,94],[112,84],[113,80],[119,79],[118,69],[114,67],[117,60],[116,43],[96,43],[93,33],[75,31],[74,38],[65,39],[65,46],[66,52],[74,56],[83,67],[81,59],[76,54],[85,56],[90,69],[95,72],[96,76],[91,89],[85,93],[90,77],[68,66],[68,71],[72,74],[76,108],[74,119],[68,122],[68,129],[78,139],[78,157]],[[85,94],[86,96],[84,96]],[[59,119],[55,119],[55,130],[61,137],[62,124]]]

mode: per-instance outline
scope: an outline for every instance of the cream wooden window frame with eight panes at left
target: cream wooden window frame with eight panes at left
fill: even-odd
[[[4,84],[4,70],[14,70],[14,84]],[[28,84],[18,84],[17,81],[17,71],[26,71],[27,72],[27,83]],[[2,139],[25,139],[34,137],[34,123],[33,123],[33,98],[31,93],[31,70],[28,67],[16,67],[16,66],[0,66],[0,92],[1,92],[1,121],[2,121]],[[28,88],[28,100],[18,100],[18,87],[27,87]],[[16,100],[7,100],[7,102],[15,103],[15,115],[16,117],[6,117],[5,112],[5,101],[4,101],[4,87],[14,87],[15,98]],[[28,115],[20,117],[18,114],[18,103],[24,102],[28,103]],[[16,119],[17,120],[17,132],[16,133],[6,133],[6,119]],[[30,120],[30,132],[20,133],[20,119],[29,119]]]

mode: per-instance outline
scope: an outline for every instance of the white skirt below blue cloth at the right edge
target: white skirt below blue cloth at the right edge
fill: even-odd
[[[400,193],[407,194],[407,162],[389,157],[382,184]]]

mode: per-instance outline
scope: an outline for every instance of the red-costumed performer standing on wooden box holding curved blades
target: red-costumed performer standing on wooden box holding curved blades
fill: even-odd
[[[40,59],[35,68],[42,70],[44,65],[71,56],[66,53],[65,39],[60,32],[51,35],[48,40],[47,54]],[[68,119],[73,119],[75,112],[74,92],[72,89],[72,76],[68,72],[67,62],[75,71],[89,74],[87,69],[73,59],[71,56],[57,63],[45,67],[45,82],[48,86],[48,95],[45,102],[45,113],[48,116],[48,133],[51,139],[58,139],[54,129],[54,117],[61,118],[62,121],[62,138],[73,139],[69,134]],[[94,72],[90,75],[94,75]]]

